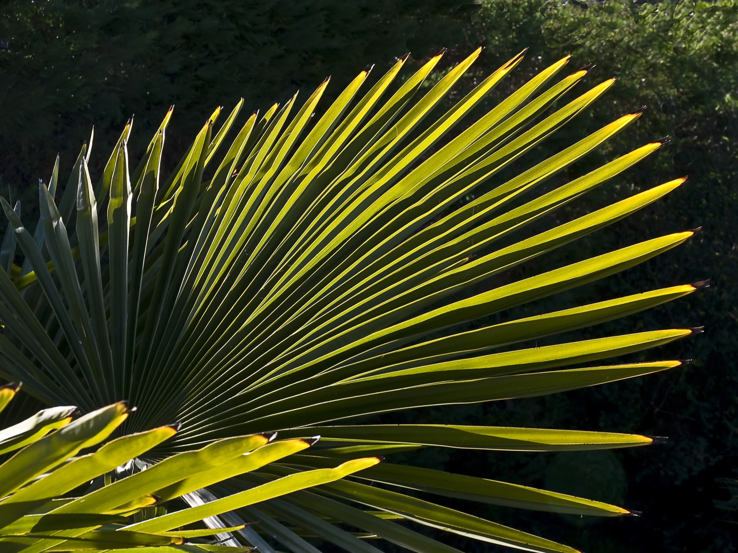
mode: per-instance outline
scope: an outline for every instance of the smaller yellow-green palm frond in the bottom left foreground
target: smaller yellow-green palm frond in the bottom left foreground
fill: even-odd
[[[3,400],[9,401],[18,388],[15,385],[0,388],[0,410]],[[311,445],[303,439],[270,442],[274,434],[234,437],[216,440],[200,450],[179,453],[146,470],[136,471],[141,466],[134,458],[172,437],[177,426],[166,425],[119,437],[97,451],[77,456],[80,450],[89,451],[108,438],[131,411],[120,402],[72,421],[75,410],[75,407],[44,409],[0,431],[0,451],[14,453],[0,465],[0,495],[3,496],[0,549],[4,553],[133,548],[156,548],[165,553],[182,551],[174,549],[182,545],[191,553],[248,551],[249,548],[238,545],[217,545],[213,543],[215,538],[204,539],[244,532],[244,524],[223,528],[210,520],[205,528],[141,532],[131,529],[131,523],[146,520],[149,524],[159,524],[173,516],[189,522],[201,521],[211,509],[207,505],[204,508],[185,505],[184,509],[167,513],[167,509],[154,504],[191,493],[200,485],[227,478],[229,474],[258,469]],[[301,490],[340,479],[376,462],[377,459],[355,459],[339,467],[310,470],[269,482],[249,493],[266,497],[275,495],[275,488],[279,493]],[[89,489],[84,495],[70,495],[86,485]],[[229,499],[236,501],[236,498]],[[249,501],[243,496],[238,498],[241,504]]]

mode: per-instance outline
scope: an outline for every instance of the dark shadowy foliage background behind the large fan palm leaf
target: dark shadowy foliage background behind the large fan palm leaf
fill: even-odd
[[[48,178],[57,151],[66,173],[95,125],[93,160],[100,164],[133,113],[132,147],[142,147],[170,103],[179,114],[167,136],[172,153],[182,150],[213,102],[230,107],[244,97],[247,109],[263,109],[296,88],[314,88],[329,73],[334,76],[329,91],[335,94],[367,63],[383,69],[408,51],[422,60],[448,46],[443,63],[451,66],[477,45],[486,46],[464,81],[471,87],[527,46],[526,60],[490,104],[567,53],[573,54],[572,69],[594,62],[587,84],[613,76],[618,82],[537,156],[554,153],[641,105],[646,111],[606,147],[554,180],[565,181],[661,136],[669,135],[671,142],[556,218],[581,215],[677,176],[689,175],[689,181],[655,206],[579,241],[576,249],[520,272],[702,226],[669,254],[537,306],[561,309],[711,279],[710,288],[686,299],[572,336],[704,325],[703,335],[649,354],[694,362],[675,372],[581,392],[404,417],[408,422],[634,431],[669,440],[586,455],[427,450],[412,460],[644,512],[640,518],[601,521],[476,506],[480,515],[587,552],[733,552],[736,526],[725,521],[735,520],[735,512],[723,509],[722,500],[730,494],[722,479],[738,468],[737,18],[738,7],[729,0],[6,1],[0,7],[0,193],[24,198],[24,219],[30,220],[36,179]],[[583,91],[586,85],[580,86]],[[511,170],[535,159],[521,159]],[[390,418],[397,422],[396,415]],[[576,478],[563,476],[571,473]],[[491,550],[489,545],[454,545]]]

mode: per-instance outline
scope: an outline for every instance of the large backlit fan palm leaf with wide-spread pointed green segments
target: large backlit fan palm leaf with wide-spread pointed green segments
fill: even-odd
[[[96,185],[83,147],[60,201],[58,166],[49,186],[41,186],[41,220],[33,234],[3,203],[13,233],[0,259],[2,375],[24,380],[47,403],[75,403],[83,411],[127,398],[139,408],[133,430],[184,423],[145,459],[263,431],[323,437],[289,462],[211,486],[207,493],[217,495],[200,502],[306,468],[335,467],[346,458],[427,446],[554,451],[652,442],[528,428],[336,425],[387,411],[530,397],[669,369],[680,362],[563,367],[596,364],[693,332],[658,330],[545,347],[531,342],[636,313],[700,285],[525,318],[505,315],[649,260],[692,232],[506,284],[491,279],[626,217],[683,179],[512,241],[515,232],[546,220],[661,143],[536,193],[551,175],[639,116],[626,114],[503,178],[511,161],[579,114],[613,80],[561,100],[587,73],[552,81],[567,64],[564,58],[452,136],[523,58],[517,55],[445,114],[426,121],[478,53],[430,88],[421,85],[440,56],[393,88],[404,63],[399,60],[363,95],[359,89],[368,74],[362,72],[322,116],[313,117],[326,80],[300,108],[293,97],[261,118],[249,116],[227,151],[224,139],[235,133],[241,103],[214,133],[218,109],[166,179],[160,160],[171,111],[136,167],[128,158],[127,125]],[[106,216],[98,208],[104,198]],[[75,203],[70,232],[64,221],[72,218]],[[22,266],[13,265],[16,243],[25,255]],[[495,313],[503,315],[497,324],[463,327]],[[370,481],[386,485],[370,487]],[[568,495],[387,463],[258,507],[216,499],[203,514],[230,512],[224,520],[235,525],[237,509],[293,552],[315,551],[306,536],[351,552],[376,553],[359,539],[367,536],[416,552],[455,551],[393,518],[530,551],[573,551],[407,490],[529,509],[628,514]],[[184,515],[162,521],[130,529],[163,532],[190,523]],[[248,539],[272,550],[255,532]]]

